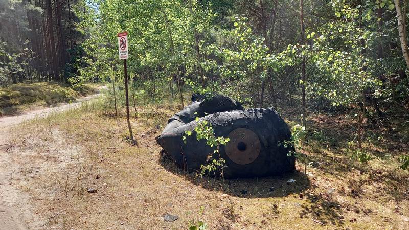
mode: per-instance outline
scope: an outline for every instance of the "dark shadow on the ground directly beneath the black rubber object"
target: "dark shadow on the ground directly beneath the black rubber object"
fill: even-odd
[[[281,176],[262,178],[222,179],[211,176],[196,176],[195,172],[188,172],[177,168],[168,158],[162,157],[160,164],[169,172],[184,177],[194,185],[209,191],[221,192],[235,197],[263,198],[285,197],[290,194],[299,194],[310,188],[307,175],[294,170]],[[295,180],[289,182],[288,180]]]

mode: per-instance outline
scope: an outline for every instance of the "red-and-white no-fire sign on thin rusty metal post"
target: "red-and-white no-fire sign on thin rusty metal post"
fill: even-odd
[[[124,60],[124,75],[125,75],[125,100],[126,100],[126,121],[128,122],[129,138],[131,143],[134,142],[132,135],[131,123],[129,122],[129,99],[128,99],[128,74],[126,73],[126,59],[128,59],[128,32],[118,34],[118,52],[119,59]]]

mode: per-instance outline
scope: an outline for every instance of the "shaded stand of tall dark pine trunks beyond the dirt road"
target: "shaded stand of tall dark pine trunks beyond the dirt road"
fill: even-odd
[[[0,84],[67,82],[77,75],[84,5],[75,0],[0,1]]]

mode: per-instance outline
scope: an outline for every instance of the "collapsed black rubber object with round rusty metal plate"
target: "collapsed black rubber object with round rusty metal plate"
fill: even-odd
[[[197,141],[194,132],[198,122],[208,121],[216,137],[230,139],[226,146],[219,148],[225,160],[224,178],[271,176],[294,170],[295,158],[287,156],[291,148],[278,146],[290,140],[291,133],[277,111],[273,108],[235,109],[242,109],[242,106],[221,95],[214,95],[210,101],[195,101],[168,121],[157,142],[178,167],[198,170],[215,150],[206,140]],[[209,110],[214,113],[202,116],[198,122],[190,116],[194,113],[200,116]],[[186,136],[185,144],[182,137],[187,130],[192,135]],[[218,154],[213,158],[218,159]]]

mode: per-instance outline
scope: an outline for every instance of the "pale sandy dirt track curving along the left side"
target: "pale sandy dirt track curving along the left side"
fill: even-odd
[[[0,117],[0,230],[31,229],[41,226],[32,212],[32,207],[26,202],[29,197],[20,188],[13,185],[13,173],[19,170],[8,151],[13,145],[10,138],[10,128],[31,119],[39,119],[69,109],[74,109],[82,103],[99,97],[100,94],[78,99],[75,103],[59,104],[55,107],[26,112],[17,116]],[[15,177],[15,176],[14,176]],[[28,224],[29,223],[29,224]]]

